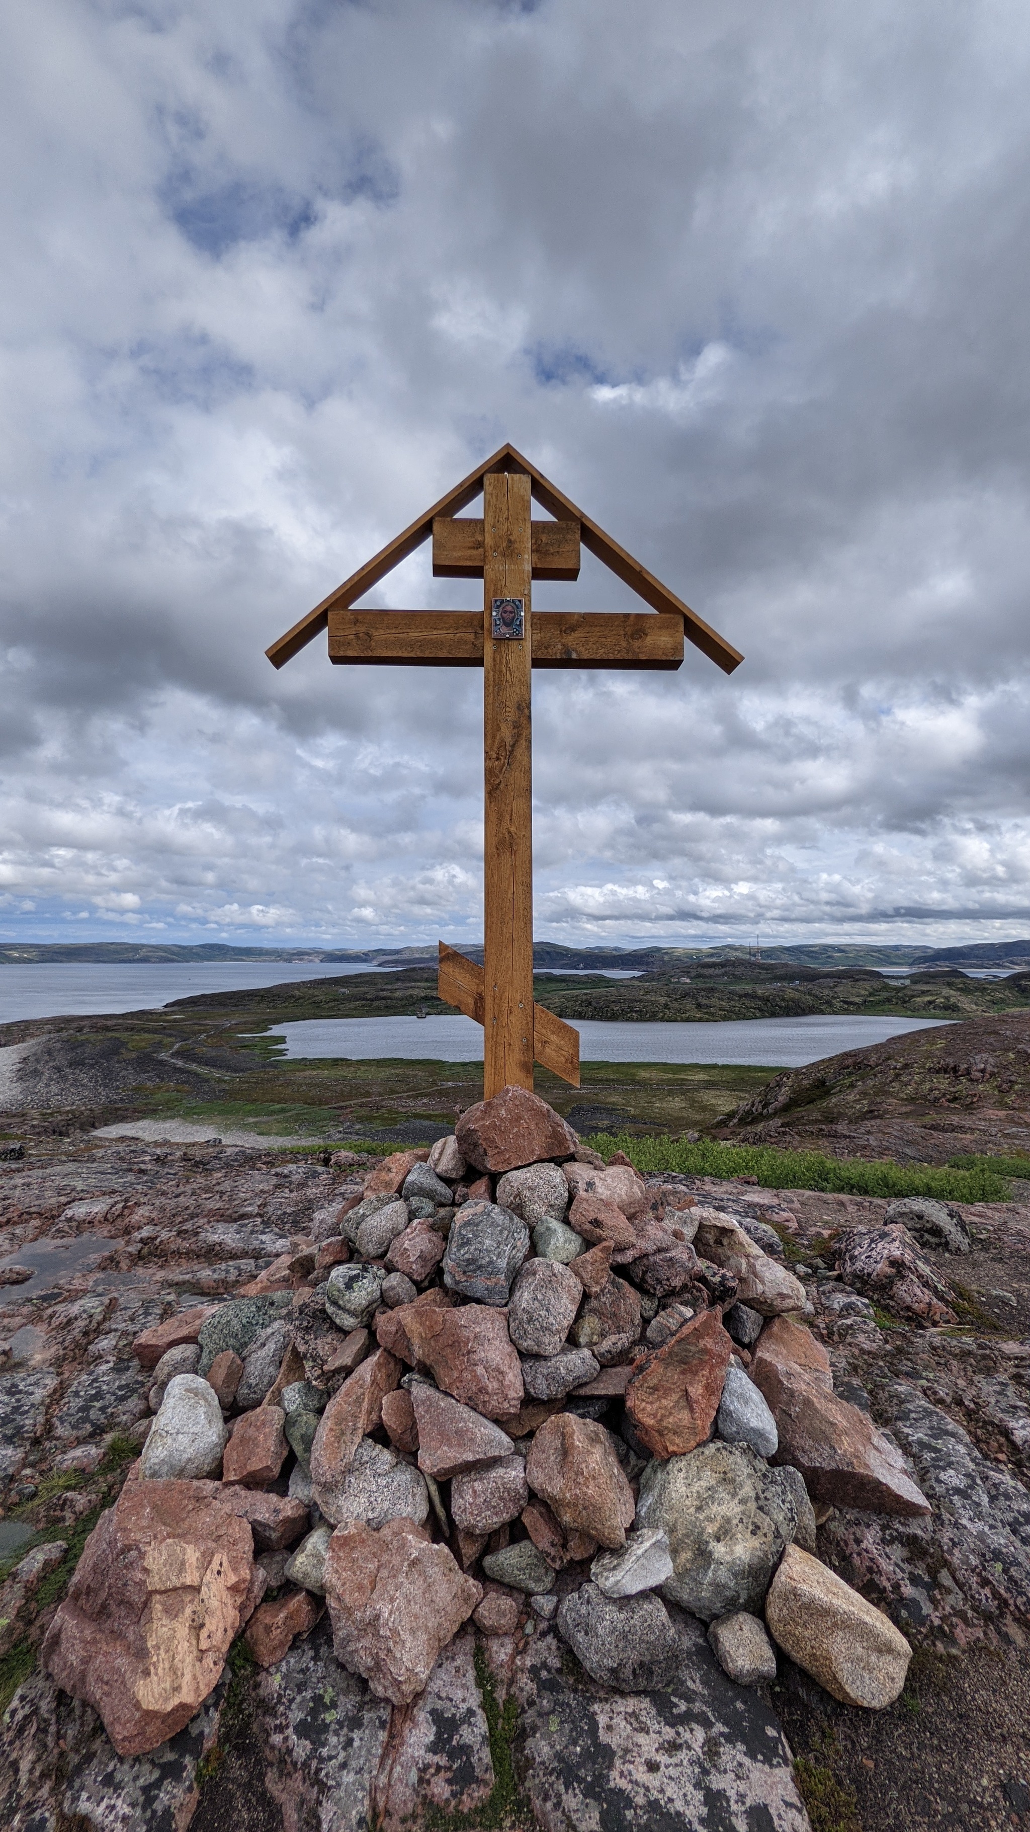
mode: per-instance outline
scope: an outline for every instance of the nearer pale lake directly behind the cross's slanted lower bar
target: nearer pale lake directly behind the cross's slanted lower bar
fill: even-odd
[[[722,1024],[601,1024],[583,1020],[579,1052],[585,1063],[748,1063],[759,1068],[803,1068],[823,1055],[863,1050],[911,1030],[931,1030],[948,1019],[728,1019]],[[290,1059],[403,1057],[444,1063],[482,1063],[482,1030],[471,1019],[304,1019],[277,1024]]]

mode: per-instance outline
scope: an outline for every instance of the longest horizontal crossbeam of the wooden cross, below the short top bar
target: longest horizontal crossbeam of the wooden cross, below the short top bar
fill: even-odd
[[[684,619],[623,610],[533,610],[535,669],[678,669]],[[330,610],[330,661],[480,669],[480,610]]]

